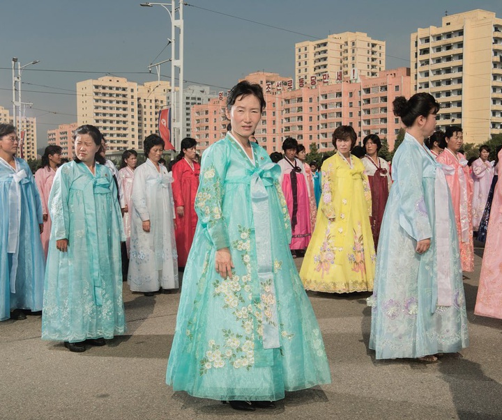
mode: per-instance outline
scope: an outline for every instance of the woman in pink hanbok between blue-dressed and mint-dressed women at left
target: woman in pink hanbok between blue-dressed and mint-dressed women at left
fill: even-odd
[[[61,164],[61,152],[63,149],[59,146],[47,146],[42,156],[42,164],[40,169],[35,173],[35,182],[40,193],[40,201],[42,201],[42,212],[44,229],[40,233],[40,240],[44,249],[45,259],[47,260],[47,251],[49,249],[49,238],[51,230],[51,219],[47,203],[49,203],[49,194],[52,188],[52,181],[56,175],[56,169]]]

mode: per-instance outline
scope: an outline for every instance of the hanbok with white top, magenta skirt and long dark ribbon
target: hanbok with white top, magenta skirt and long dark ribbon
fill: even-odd
[[[298,159],[295,159],[293,163],[285,157],[277,164],[281,168],[280,183],[291,219],[292,238],[289,249],[306,249],[310,242],[312,228],[305,168]]]

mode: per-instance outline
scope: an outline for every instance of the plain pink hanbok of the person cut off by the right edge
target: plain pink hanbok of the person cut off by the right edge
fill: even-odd
[[[499,162],[502,150],[499,151]],[[499,165],[499,179],[502,165]],[[483,254],[478,297],[474,313],[502,319],[502,183],[497,182],[488,222],[488,235]]]

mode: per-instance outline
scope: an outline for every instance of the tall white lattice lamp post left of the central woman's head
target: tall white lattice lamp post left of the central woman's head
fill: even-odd
[[[178,5],[178,6],[176,6]],[[172,114],[172,139],[173,146],[181,144],[185,137],[185,110],[183,107],[183,0],[172,0],[171,3],[140,3],[143,7],[162,6],[167,10],[171,19],[171,114]],[[170,10],[168,8],[170,6]],[[176,29],[179,30],[179,38],[176,40]],[[176,45],[178,45],[178,57],[176,58]],[[160,64],[160,63],[158,63]],[[178,84],[176,86],[176,68],[178,69]],[[179,100],[176,101],[176,87],[179,92]]]

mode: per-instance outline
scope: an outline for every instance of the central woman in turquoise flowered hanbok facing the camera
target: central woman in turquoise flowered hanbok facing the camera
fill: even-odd
[[[280,167],[249,141],[264,107],[259,85],[234,86],[231,131],[202,157],[199,221],[166,376],[174,391],[236,410],[273,408],[284,391],[330,383],[319,325],[289,251]]]

